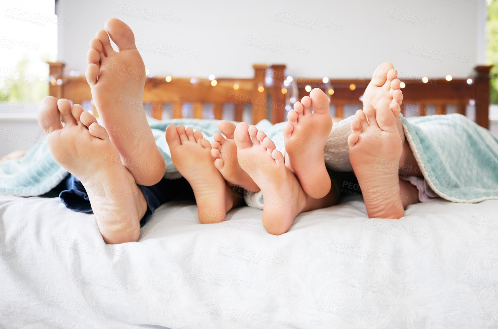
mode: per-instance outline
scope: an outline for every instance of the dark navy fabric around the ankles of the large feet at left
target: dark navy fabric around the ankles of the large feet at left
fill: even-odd
[[[69,174],[64,179],[65,190],[59,193],[59,198],[66,208],[80,213],[92,213],[92,206],[87,191],[80,180]],[[147,202],[147,211],[140,220],[140,227],[145,225],[152,213],[160,205],[173,200],[195,200],[194,193],[184,178],[168,180],[161,179],[152,186],[137,185]]]

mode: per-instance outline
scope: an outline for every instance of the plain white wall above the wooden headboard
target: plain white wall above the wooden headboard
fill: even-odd
[[[145,11],[164,19],[139,13]],[[88,43],[110,17],[124,20],[144,43],[158,45],[140,52],[150,72],[161,75],[251,77],[253,63],[284,63],[295,76],[365,78],[373,65],[391,61],[406,76],[466,77],[484,60],[484,0],[59,0],[56,12],[71,21],[70,27],[59,26],[58,40],[58,57],[68,71],[85,71]],[[322,24],[291,25],[305,17]],[[268,41],[250,41],[262,38]],[[252,46],[272,43],[284,49]],[[410,44],[437,58],[406,53]],[[198,58],[150,52],[161,47]]]

